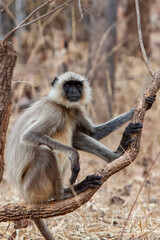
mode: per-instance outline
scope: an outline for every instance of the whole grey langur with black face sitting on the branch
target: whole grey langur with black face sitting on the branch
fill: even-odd
[[[133,141],[132,133],[142,128],[140,123],[130,123],[119,147],[112,151],[97,140],[130,120],[134,109],[95,126],[85,111],[85,105],[91,99],[91,88],[85,77],[68,72],[56,77],[51,85],[48,96],[34,103],[18,119],[5,150],[9,176],[28,203],[73,196],[71,188],[63,188],[63,176],[70,160],[70,184],[77,179],[80,166],[76,149],[111,162],[128,148]],[[152,99],[150,101],[152,105]],[[101,177],[90,175],[73,188],[78,194],[100,185]],[[54,239],[43,220],[36,218],[34,221],[45,239]]]

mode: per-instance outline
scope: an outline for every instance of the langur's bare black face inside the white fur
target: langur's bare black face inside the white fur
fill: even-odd
[[[82,97],[83,83],[80,81],[67,81],[63,85],[66,98],[70,102],[77,102]]]

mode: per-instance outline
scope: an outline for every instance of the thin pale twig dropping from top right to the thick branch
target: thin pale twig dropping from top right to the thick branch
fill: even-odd
[[[142,51],[142,56],[144,59],[144,62],[147,66],[147,69],[150,73],[150,75],[153,77],[154,76],[154,71],[151,68],[151,65],[148,61],[148,57],[146,54],[146,50],[144,48],[144,44],[143,44],[143,37],[142,37],[142,30],[141,30],[141,17],[140,17],[140,10],[139,10],[139,2],[138,0],[135,0],[135,7],[136,7],[136,16],[137,16],[137,28],[138,28],[138,39],[139,39],[139,45]]]

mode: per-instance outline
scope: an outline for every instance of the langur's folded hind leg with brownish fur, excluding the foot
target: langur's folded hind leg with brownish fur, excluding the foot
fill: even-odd
[[[22,186],[29,203],[62,198],[62,180],[52,151],[43,148],[37,150],[34,161],[23,172]]]

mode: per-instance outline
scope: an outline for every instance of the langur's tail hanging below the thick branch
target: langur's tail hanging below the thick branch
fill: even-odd
[[[45,224],[45,222],[42,219],[34,218],[34,222],[35,222],[36,226],[38,227],[39,231],[41,232],[42,236],[46,240],[55,240],[55,238],[50,233],[47,225]]]

